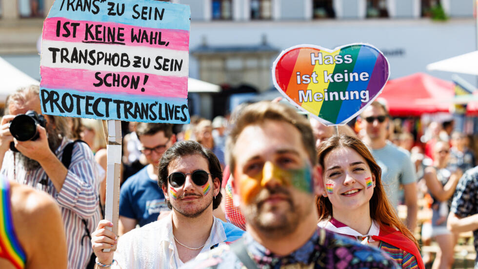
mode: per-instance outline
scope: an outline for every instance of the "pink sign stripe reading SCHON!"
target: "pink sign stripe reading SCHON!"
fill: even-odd
[[[84,69],[51,68],[45,66],[40,66],[40,72],[41,87],[45,88],[63,88],[107,94],[135,94],[141,96],[187,98],[187,77],[164,77],[144,73],[115,73]],[[102,85],[99,87],[93,85],[99,83],[99,80],[95,77],[97,72],[100,72],[99,77],[103,81]],[[107,86],[104,83],[104,78],[107,74],[112,74],[106,77],[106,83],[111,84],[111,86]],[[144,83],[145,75],[148,76],[146,83]],[[114,82],[114,79],[116,82]],[[136,89],[131,89],[133,80],[139,80]],[[123,87],[128,81],[128,85]],[[141,91],[141,88],[144,88],[144,92]]]

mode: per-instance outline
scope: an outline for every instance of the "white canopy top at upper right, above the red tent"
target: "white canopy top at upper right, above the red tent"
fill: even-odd
[[[427,69],[478,75],[478,50],[430,63]]]

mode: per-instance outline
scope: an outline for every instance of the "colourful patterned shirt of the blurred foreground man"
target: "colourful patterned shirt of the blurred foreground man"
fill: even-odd
[[[260,245],[248,233],[244,245],[259,269],[352,269],[396,268],[395,263],[377,248],[361,245],[354,240],[325,229],[317,232],[302,247],[287,256],[279,256]],[[187,263],[183,269],[245,269],[229,246],[217,248]]]

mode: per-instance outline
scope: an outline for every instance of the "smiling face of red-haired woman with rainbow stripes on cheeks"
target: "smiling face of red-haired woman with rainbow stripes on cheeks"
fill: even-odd
[[[348,147],[335,148],[325,156],[324,166],[325,194],[334,213],[369,207],[375,176],[357,151]]]

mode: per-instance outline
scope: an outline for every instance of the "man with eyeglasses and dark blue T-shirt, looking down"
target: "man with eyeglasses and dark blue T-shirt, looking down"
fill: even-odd
[[[119,194],[119,235],[154,222],[161,211],[170,209],[158,186],[158,166],[162,154],[176,141],[171,124],[139,123],[136,133],[140,151],[148,165],[129,177]]]

